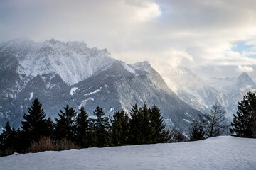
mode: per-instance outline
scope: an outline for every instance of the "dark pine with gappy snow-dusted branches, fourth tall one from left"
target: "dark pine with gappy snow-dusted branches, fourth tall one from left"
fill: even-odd
[[[105,117],[102,108],[97,107],[93,112],[97,118],[94,119],[95,145],[96,147],[107,147],[110,144],[110,124],[109,119]]]

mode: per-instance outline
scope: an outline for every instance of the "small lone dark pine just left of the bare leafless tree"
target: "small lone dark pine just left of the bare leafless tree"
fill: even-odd
[[[198,123],[197,121],[193,121],[191,125],[192,125],[192,128],[189,134],[189,140],[196,141],[196,140],[205,139],[204,137],[205,132],[203,131],[203,126],[200,125],[200,123]]]

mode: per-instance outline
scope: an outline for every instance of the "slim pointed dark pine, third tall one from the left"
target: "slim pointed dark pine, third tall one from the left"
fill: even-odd
[[[80,147],[89,147],[88,138],[89,138],[89,118],[88,114],[85,111],[85,108],[82,106],[79,109],[78,118],[76,120],[76,139]]]

